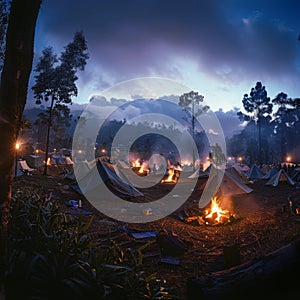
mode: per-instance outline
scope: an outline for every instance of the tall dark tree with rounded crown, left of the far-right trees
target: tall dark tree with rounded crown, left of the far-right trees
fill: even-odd
[[[246,114],[239,111],[237,115],[240,120],[254,121],[258,125],[258,160],[261,162],[261,124],[262,120],[270,116],[273,109],[273,104],[268,97],[265,86],[261,82],[257,82],[255,87],[251,89],[250,94],[245,94],[243,97],[243,106],[246,110]]]

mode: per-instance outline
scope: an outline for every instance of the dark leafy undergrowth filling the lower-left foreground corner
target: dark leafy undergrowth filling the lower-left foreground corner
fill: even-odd
[[[109,234],[95,242],[93,216],[83,222],[30,188],[16,190],[11,205],[2,274],[7,300],[175,299],[164,280],[144,270],[142,250],[149,244],[122,249]]]

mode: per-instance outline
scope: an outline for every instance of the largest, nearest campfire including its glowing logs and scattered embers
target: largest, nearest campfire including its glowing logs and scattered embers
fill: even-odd
[[[226,225],[232,223],[236,218],[227,209],[223,209],[220,206],[220,201],[217,197],[211,200],[209,208],[205,209],[202,216],[190,216],[186,217],[187,223],[197,221],[199,225]]]

